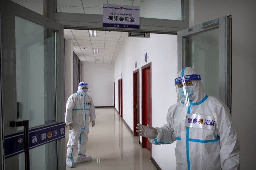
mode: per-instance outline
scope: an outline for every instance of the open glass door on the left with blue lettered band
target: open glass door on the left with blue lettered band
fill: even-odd
[[[30,169],[65,169],[63,25],[9,0],[0,7],[4,167],[25,169],[24,129],[10,122],[29,120]]]

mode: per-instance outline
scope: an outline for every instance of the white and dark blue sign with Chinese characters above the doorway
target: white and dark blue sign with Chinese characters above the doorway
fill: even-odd
[[[140,29],[140,7],[103,4],[103,27]]]

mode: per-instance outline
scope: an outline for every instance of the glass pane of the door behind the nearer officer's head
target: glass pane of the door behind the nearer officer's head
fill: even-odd
[[[185,38],[185,66],[199,72],[207,95],[219,97],[219,29]]]

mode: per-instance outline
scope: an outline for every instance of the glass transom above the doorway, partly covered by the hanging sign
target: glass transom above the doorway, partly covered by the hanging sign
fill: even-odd
[[[99,14],[103,4],[140,7],[140,17],[182,20],[181,0],[57,0],[57,12]]]

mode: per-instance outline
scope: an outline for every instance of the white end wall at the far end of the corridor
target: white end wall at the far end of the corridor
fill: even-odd
[[[82,70],[94,106],[114,106],[114,64],[83,62]]]

